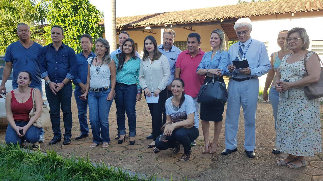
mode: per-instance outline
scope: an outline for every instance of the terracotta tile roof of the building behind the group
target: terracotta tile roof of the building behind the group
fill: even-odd
[[[323,0],[270,0],[156,14],[118,17],[117,27],[149,26],[266,14],[322,11]],[[104,24],[104,20],[102,23]]]

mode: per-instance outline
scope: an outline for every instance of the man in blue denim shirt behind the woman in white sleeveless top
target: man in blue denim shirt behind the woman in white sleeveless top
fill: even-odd
[[[81,96],[86,89],[86,81],[88,77],[88,58],[95,57],[95,53],[91,51],[93,46],[93,39],[89,34],[83,34],[80,38],[82,52],[76,54],[77,60],[77,72],[73,79],[75,84],[74,97],[76,105],[78,107],[78,121],[80,123],[81,134],[75,137],[75,139],[86,138],[89,136],[89,126],[87,120],[88,100],[81,100]]]

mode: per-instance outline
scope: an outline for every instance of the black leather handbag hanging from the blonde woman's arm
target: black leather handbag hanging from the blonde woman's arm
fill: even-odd
[[[207,81],[201,86],[199,94],[197,95],[197,102],[199,103],[222,103],[224,104],[228,99],[228,92],[226,91],[225,83],[220,82],[219,77],[216,76],[218,81],[214,82],[213,79]]]

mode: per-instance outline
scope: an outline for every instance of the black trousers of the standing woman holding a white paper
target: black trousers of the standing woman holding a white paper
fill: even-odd
[[[153,94],[151,94],[153,96]],[[145,95],[146,99],[146,95]],[[159,93],[158,103],[147,103],[151,115],[152,136],[154,141],[162,133],[161,126],[163,125],[163,110],[165,109],[165,102],[167,100],[167,88]],[[164,117],[166,121],[166,116]]]

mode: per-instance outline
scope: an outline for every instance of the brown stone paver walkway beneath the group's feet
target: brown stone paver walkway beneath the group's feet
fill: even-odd
[[[183,154],[183,149],[179,154],[174,154],[171,149],[162,150],[155,154],[153,148],[147,148],[152,140],[147,140],[146,136],[151,133],[151,116],[148,106],[143,98],[136,106],[137,110],[137,135],[135,145],[129,145],[129,135],[126,141],[118,144],[114,139],[117,134],[116,108],[112,104],[109,114],[109,130],[111,143],[109,148],[89,148],[92,143],[92,134],[90,129],[89,138],[75,140],[74,137],[79,134],[79,123],[77,118],[77,107],[72,96],[73,112],[73,139],[70,145],[63,145],[63,141],[56,145],[48,145],[53,138],[52,129],[47,129],[45,142],[40,144],[42,151],[54,149],[64,156],[70,157],[87,156],[92,162],[102,163],[114,167],[122,167],[137,173],[146,175],[158,174],[159,177],[173,180],[181,180],[188,177],[197,180],[304,180],[319,181],[323,180],[323,154],[316,157],[307,157],[307,167],[301,169],[290,169],[276,165],[276,161],[286,154],[274,155],[271,153],[275,143],[274,120],[272,117],[271,105],[265,102],[258,103],[256,120],[256,157],[250,159],[245,156],[244,141],[244,121],[241,111],[240,128],[238,132],[238,151],[231,155],[220,155],[224,149],[224,121],[223,128],[219,138],[218,150],[215,154],[202,154],[203,133],[200,126],[200,136],[197,138],[197,145],[193,148],[193,154],[188,162],[178,161]],[[3,108],[0,108],[3,109]],[[321,106],[321,112],[323,107]],[[321,113],[322,114],[322,113]],[[224,114],[225,116],[225,114]],[[322,118],[323,119],[323,118]],[[201,125],[201,123],[200,123]],[[0,141],[5,139],[5,129],[7,120],[0,119]],[[62,131],[63,122],[61,122]],[[126,125],[126,128],[128,124]],[[210,139],[212,140],[214,124],[210,125]],[[129,129],[127,128],[129,133]]]

